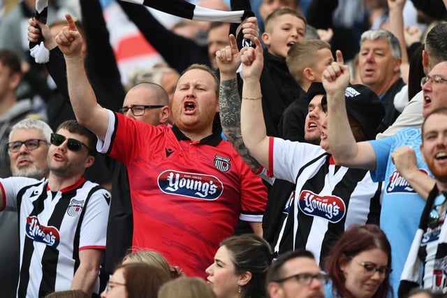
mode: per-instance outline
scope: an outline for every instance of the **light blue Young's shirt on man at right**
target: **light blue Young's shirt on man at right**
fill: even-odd
[[[404,269],[414,234],[418,229],[425,200],[397,172],[391,161],[391,154],[395,149],[404,145],[413,148],[416,152],[419,170],[432,177],[420,153],[421,142],[420,128],[404,128],[391,137],[369,141],[376,153],[377,162],[376,171],[371,172],[372,179],[384,181],[380,225],[391,244],[393,272],[390,282],[393,285],[395,297],[397,297],[400,275]]]

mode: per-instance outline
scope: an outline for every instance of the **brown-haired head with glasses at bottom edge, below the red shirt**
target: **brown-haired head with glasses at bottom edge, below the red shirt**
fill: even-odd
[[[156,298],[161,285],[169,280],[170,274],[161,267],[145,263],[119,265],[101,293],[101,298]]]

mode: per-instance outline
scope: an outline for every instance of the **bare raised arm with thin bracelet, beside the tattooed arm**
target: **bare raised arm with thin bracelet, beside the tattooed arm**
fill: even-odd
[[[242,107],[241,131],[245,146],[256,161],[268,168],[269,138],[265,129],[263,107],[261,103],[261,84],[259,78],[263,70],[263,47],[258,38],[254,38],[256,48],[241,50]]]

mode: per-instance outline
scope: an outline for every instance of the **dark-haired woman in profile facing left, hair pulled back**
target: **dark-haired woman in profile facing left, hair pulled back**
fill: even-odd
[[[205,272],[217,298],[265,298],[265,274],[272,262],[270,245],[255,234],[221,242]]]

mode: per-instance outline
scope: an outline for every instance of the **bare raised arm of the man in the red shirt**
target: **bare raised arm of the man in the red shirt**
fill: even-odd
[[[67,66],[68,94],[78,122],[104,140],[108,128],[109,115],[96,102],[96,96],[87,80],[82,59],[82,36],[76,29],[71,15],[66,15],[67,27],[54,38],[64,53]]]

